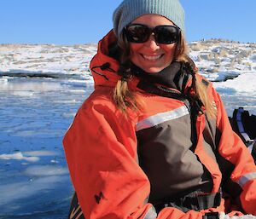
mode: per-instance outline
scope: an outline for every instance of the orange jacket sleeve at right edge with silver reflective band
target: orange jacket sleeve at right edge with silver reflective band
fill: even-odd
[[[247,214],[256,215],[256,166],[253,157],[232,130],[223,102],[215,90],[213,95],[218,109],[217,126],[221,133],[218,152],[234,166],[230,180],[241,187],[242,208]]]

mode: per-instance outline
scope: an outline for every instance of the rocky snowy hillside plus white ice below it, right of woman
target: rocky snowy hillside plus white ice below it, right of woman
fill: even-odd
[[[190,56],[213,82],[229,115],[235,107],[256,114],[256,43],[218,39],[193,42]]]

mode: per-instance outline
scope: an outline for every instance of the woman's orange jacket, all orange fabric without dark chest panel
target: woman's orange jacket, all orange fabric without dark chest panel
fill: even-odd
[[[129,116],[125,117],[112,98],[113,87],[119,79],[116,74],[119,63],[108,56],[108,44],[115,40],[113,32],[109,32],[99,43],[98,52],[90,63],[90,69],[94,70],[92,74],[95,91],[79,108],[63,140],[73,186],[85,218],[197,219],[207,211],[227,211],[224,199],[216,209],[189,210],[184,213],[177,208],[166,207],[158,215],[153,205],[148,203],[150,182],[138,164],[138,124],[148,122],[148,118],[154,118],[160,113],[183,109],[184,104],[183,101],[142,92],[137,89],[138,79],[133,78],[129,81],[129,87],[138,91],[146,107],[139,113],[128,109]],[[104,66],[106,62],[109,65]],[[234,166],[228,178],[231,184],[241,188],[243,210],[256,215],[256,166],[253,158],[241,139],[232,131],[223,103],[212,84],[209,84],[208,90],[218,109],[215,124],[221,133],[218,154],[223,158],[224,165],[228,163]],[[224,170],[204,147],[204,114],[198,116],[195,125],[195,154],[211,174],[211,193],[217,193]]]

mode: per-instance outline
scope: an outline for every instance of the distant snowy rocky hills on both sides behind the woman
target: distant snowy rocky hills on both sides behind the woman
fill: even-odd
[[[256,71],[256,43],[238,43],[218,39],[189,44],[190,56],[201,73],[212,81],[235,78]],[[79,74],[90,78],[90,59],[96,44],[74,46],[1,44],[0,72],[24,76],[39,73],[48,77]]]

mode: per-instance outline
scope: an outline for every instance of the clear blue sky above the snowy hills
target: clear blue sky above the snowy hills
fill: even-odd
[[[180,0],[186,38],[256,43],[256,0]],[[122,0],[0,0],[0,43],[97,43]]]

